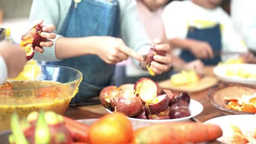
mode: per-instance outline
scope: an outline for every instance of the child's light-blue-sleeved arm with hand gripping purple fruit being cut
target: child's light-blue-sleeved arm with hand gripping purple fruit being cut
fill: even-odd
[[[149,52],[150,40],[142,27],[142,24],[138,18],[137,6],[135,0],[119,0],[121,10],[121,38],[136,52],[144,55]],[[152,70],[156,74],[160,74],[170,68],[171,65],[171,51],[168,45],[161,45],[158,43],[156,46],[158,50],[164,50],[167,52],[166,56],[155,55],[154,60],[151,63]],[[133,59],[134,60],[134,59]],[[143,66],[143,62],[139,63],[134,61],[139,66]],[[162,63],[162,64],[161,64]]]

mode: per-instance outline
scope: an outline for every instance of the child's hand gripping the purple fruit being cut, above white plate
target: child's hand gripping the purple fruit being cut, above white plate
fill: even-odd
[[[155,55],[154,61],[151,62],[150,68],[155,74],[161,74],[164,71],[168,71],[171,67],[171,49],[169,45],[161,44],[160,40],[155,40],[155,49],[166,52],[165,56]]]

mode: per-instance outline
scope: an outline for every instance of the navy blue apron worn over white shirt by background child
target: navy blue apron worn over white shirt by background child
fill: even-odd
[[[221,31],[220,25],[217,24],[214,27],[198,29],[195,27],[189,27],[187,38],[201,40],[208,42],[214,52],[221,51]],[[180,57],[186,61],[190,62],[196,59],[196,57],[189,50],[183,50]],[[214,59],[201,59],[205,65],[216,65],[220,62],[220,56],[215,56]]]

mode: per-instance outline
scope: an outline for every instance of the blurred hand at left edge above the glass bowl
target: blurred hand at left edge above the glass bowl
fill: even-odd
[[[0,84],[7,77],[16,77],[26,64],[26,53],[18,45],[9,42],[0,43]]]

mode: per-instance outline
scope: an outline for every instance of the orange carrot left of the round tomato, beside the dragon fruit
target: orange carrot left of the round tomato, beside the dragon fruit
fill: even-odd
[[[89,126],[63,116],[65,127],[70,131],[74,141],[88,142]]]

